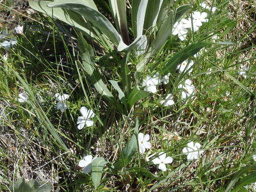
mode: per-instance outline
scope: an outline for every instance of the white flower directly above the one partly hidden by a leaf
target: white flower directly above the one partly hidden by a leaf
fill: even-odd
[[[84,125],[86,126],[92,126],[93,120],[89,119],[95,116],[94,112],[92,110],[87,110],[84,106],[81,107],[80,112],[82,116],[79,116],[77,119],[77,128],[78,130],[83,129]]]

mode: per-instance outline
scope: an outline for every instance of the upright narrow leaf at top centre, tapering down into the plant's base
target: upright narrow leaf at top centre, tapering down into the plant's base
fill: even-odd
[[[126,2],[125,0],[109,0],[109,2],[116,28],[121,34],[122,40],[125,42],[125,44],[129,44],[129,32],[126,19]]]

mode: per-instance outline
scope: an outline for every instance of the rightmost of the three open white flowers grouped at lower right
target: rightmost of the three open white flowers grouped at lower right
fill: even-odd
[[[187,143],[188,147],[183,148],[182,152],[187,155],[187,160],[194,160],[198,159],[199,156],[204,152],[203,150],[199,151],[199,148],[201,148],[200,143],[195,143],[193,141],[190,141]]]

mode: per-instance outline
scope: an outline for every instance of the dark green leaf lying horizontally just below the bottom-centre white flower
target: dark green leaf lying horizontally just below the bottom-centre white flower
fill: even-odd
[[[136,175],[138,176],[145,176],[145,177],[150,177],[152,179],[156,180],[162,180],[164,177],[158,177],[155,176],[153,173],[151,173],[149,170],[146,168],[139,168],[139,167],[133,167],[133,168],[126,168],[125,172],[120,173],[121,175]]]

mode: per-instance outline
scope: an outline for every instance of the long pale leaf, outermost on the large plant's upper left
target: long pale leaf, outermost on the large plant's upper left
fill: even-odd
[[[50,1],[29,1],[29,5],[31,8],[35,9],[36,11],[45,13],[50,17],[57,18],[65,22],[81,31],[86,33],[88,36],[93,36],[90,32],[89,27],[87,27],[86,22],[81,15],[73,12],[71,10],[65,10],[61,8],[50,8],[47,5],[50,4]]]

